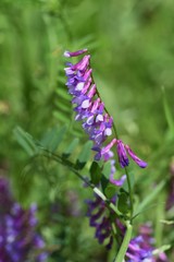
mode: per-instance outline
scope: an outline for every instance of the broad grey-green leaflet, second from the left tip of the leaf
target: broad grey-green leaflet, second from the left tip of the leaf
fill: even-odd
[[[53,128],[49,130],[40,141],[40,144],[51,152],[54,152],[63,140],[67,127],[61,129]]]

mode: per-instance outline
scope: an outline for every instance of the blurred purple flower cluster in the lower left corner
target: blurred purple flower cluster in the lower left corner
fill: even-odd
[[[0,261],[24,262],[34,255],[36,262],[47,260],[42,238],[36,234],[36,205],[24,211],[15,203],[9,182],[0,178]]]

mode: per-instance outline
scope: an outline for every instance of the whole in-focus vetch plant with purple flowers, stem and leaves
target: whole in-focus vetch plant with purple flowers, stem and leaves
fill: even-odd
[[[80,122],[82,130],[88,136],[77,158],[75,154],[73,155],[76,160],[70,158],[78,145],[78,139],[74,135],[71,143],[64,145],[63,152],[57,153],[69,132],[66,126],[53,128],[44,134],[40,141],[34,140],[21,128],[14,130],[15,136],[30,157],[47,157],[65,166],[83,180],[84,190],[90,188],[94,191],[94,199],[85,201],[89,225],[95,229],[95,238],[100,245],[108,250],[114,249],[114,262],[167,262],[165,250],[171,246],[157,248],[153,226],[146,222],[137,229],[135,224],[135,218],[158,195],[165,181],[161,181],[137,206],[133,175],[128,170],[128,165],[129,160],[133,160],[140,168],[146,168],[147,163],[119,138],[115,122],[95,83],[90,55],[87,52],[87,49],[64,52],[70,59],[83,56],[76,63],[67,61],[64,69],[67,90],[64,91],[63,86],[63,92],[69,92],[75,121]],[[92,159],[89,162],[90,155]],[[90,178],[84,177],[80,172],[87,163],[86,171]]]

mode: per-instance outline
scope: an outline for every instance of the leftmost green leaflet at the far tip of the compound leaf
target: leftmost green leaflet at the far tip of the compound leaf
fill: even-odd
[[[26,133],[22,128],[17,127],[13,130],[14,136],[18,144],[26,151],[29,156],[38,152],[34,139],[30,134]]]

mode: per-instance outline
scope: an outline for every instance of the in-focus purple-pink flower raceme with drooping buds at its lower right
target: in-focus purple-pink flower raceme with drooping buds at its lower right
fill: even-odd
[[[65,57],[77,57],[87,52],[87,49],[75,52],[65,51]],[[114,138],[108,145],[104,145],[105,140],[112,135],[113,118],[108,114],[104,103],[101,100],[97,86],[92,78],[92,69],[90,68],[90,56],[86,55],[77,63],[66,63],[64,69],[67,76],[69,93],[73,96],[72,104],[76,112],[75,120],[83,122],[83,129],[94,141],[92,150],[96,151],[95,160],[105,160],[105,155],[109,155],[111,148],[115,145],[119,162],[122,168],[128,166],[130,158],[141,168],[147,166],[147,163],[138,158],[135,153],[125,145],[122,140]],[[108,157],[108,160],[110,157]]]

